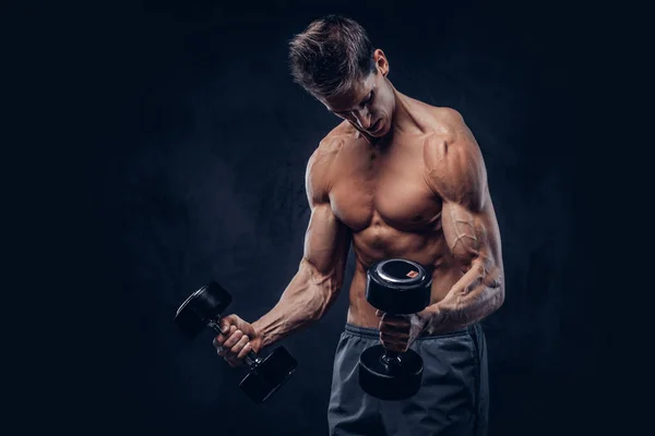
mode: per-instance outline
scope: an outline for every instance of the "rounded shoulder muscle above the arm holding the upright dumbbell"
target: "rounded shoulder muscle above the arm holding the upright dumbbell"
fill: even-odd
[[[480,148],[462,114],[434,109],[433,130],[424,141],[426,180],[444,201],[480,209],[487,171]]]

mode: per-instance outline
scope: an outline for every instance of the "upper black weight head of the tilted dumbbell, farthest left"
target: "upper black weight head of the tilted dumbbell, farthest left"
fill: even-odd
[[[175,324],[188,337],[196,337],[207,324],[231,303],[231,295],[211,281],[193,292],[177,310]]]

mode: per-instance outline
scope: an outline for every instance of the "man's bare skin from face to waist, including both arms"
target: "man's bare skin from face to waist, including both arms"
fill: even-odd
[[[308,161],[303,256],[269,313],[252,324],[234,314],[223,319],[214,344],[233,366],[325,314],[342,289],[350,245],[347,322],[379,328],[390,350],[469,326],[504,301],[500,231],[473,133],[456,110],[395,89],[382,50],[373,59],[376,72],[347,92],[315,96],[343,122]],[[367,268],[391,257],[431,270],[431,304],[420,313],[392,316],[366,301]]]

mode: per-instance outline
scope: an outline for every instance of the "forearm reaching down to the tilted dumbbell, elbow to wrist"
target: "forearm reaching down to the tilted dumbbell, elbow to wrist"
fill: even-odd
[[[342,279],[337,274],[321,275],[302,261],[277,304],[252,323],[261,335],[260,348],[319,320],[334,302],[341,286]]]

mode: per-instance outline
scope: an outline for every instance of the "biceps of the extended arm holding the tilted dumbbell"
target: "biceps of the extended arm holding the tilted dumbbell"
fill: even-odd
[[[330,204],[313,208],[305,234],[305,261],[322,276],[343,275],[350,232],[332,211]]]

